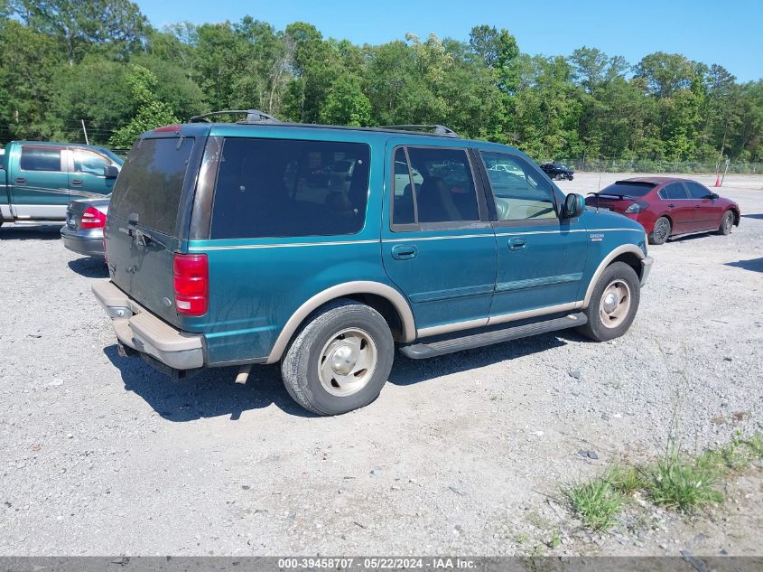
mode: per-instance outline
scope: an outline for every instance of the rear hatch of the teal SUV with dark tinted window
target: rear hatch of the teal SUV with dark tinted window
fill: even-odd
[[[138,304],[179,325],[172,256],[181,248],[181,197],[192,184],[194,137],[144,137],[130,151],[111,195],[106,225],[111,280]]]

